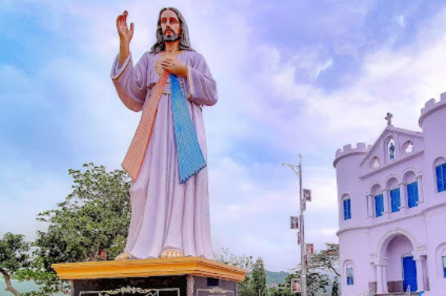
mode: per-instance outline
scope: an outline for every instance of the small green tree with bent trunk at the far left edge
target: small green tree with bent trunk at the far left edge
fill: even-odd
[[[25,242],[21,234],[14,235],[7,232],[0,239],[0,273],[6,282],[6,291],[15,296],[21,294],[12,287],[12,276],[29,265],[29,243]]]

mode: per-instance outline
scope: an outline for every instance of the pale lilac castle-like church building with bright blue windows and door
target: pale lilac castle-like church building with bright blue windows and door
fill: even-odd
[[[437,183],[446,180],[437,172],[446,172],[446,93],[426,103],[419,124],[422,133],[389,124],[373,146],[336,151],[343,296],[408,286],[446,295],[446,190]]]

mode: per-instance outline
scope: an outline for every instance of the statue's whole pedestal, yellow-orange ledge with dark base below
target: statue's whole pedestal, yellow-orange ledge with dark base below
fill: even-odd
[[[246,270],[198,257],[53,264],[73,296],[236,296]]]

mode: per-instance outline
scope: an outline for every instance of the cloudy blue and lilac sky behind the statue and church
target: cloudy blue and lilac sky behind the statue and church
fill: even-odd
[[[177,7],[217,81],[205,107],[214,251],[300,261],[302,153],[306,242],[337,242],[333,160],[373,144],[392,112],[421,131],[420,109],[446,92],[446,4],[417,0],[3,0],[0,5],[0,236],[28,240],[70,192],[68,168],[120,167],[140,114],[110,79],[124,9],[134,60],[153,45],[158,12]]]

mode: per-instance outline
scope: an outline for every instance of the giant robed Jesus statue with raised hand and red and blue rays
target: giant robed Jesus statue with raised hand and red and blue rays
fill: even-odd
[[[120,47],[111,79],[124,105],[142,116],[122,163],[132,178],[132,216],[116,259],[213,259],[202,108],[217,102],[216,82],[177,9],[160,11],[156,43],[136,65],[127,16],[116,19]]]

